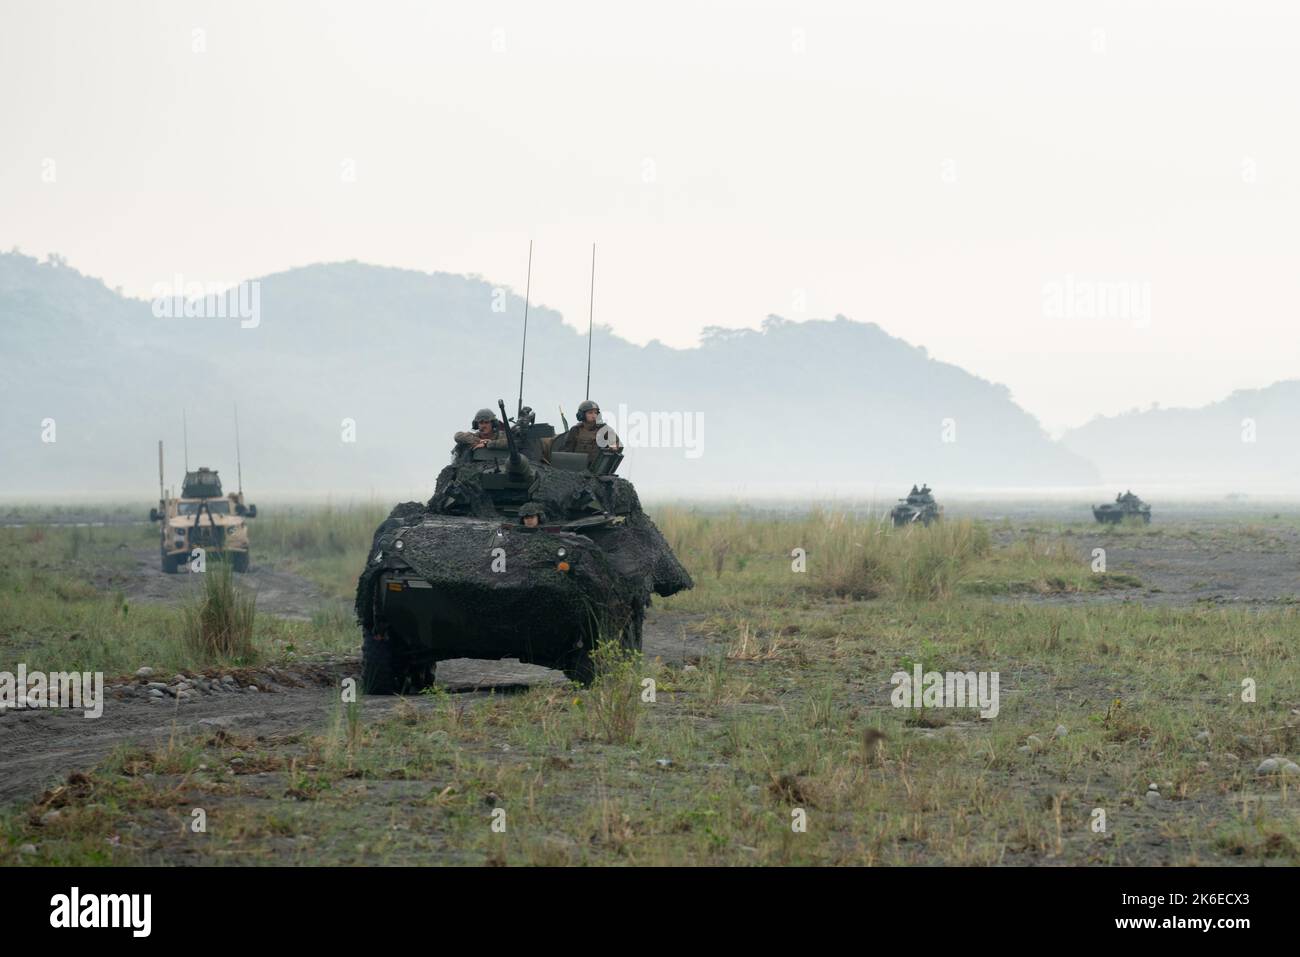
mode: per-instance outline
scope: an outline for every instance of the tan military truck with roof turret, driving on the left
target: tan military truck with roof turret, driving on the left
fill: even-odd
[[[237,572],[248,571],[248,524],[257,506],[244,502],[243,489],[221,493],[221,477],[200,467],[186,472],[181,495],[162,489],[162,443],[159,442],[159,506],[150,508],[150,520],[162,523],[160,554],[162,571],[176,575],[199,557],[224,558]]]

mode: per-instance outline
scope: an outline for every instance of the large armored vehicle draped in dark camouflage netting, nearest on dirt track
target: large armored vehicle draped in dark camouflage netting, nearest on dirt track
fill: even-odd
[[[519,658],[588,684],[598,641],[640,650],[651,593],[694,584],[615,475],[620,451],[589,462],[497,404],[506,447],[458,446],[433,497],[374,533],[356,586],[369,693],[420,690],[447,658]]]

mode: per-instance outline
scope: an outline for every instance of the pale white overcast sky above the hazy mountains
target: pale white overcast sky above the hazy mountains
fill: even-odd
[[[147,296],[532,238],[585,326],[594,241],[633,341],[844,313],[1057,432],[1300,376],[1297,120],[1294,3],[0,0],[0,244]]]

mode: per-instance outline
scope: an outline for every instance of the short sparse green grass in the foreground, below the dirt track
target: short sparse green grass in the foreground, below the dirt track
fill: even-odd
[[[1300,745],[1294,611],[888,599],[842,606],[833,633],[820,618],[790,615],[803,625],[770,655],[733,642],[590,690],[437,693],[368,720],[339,706],[278,745],[133,752],[57,827],[5,819],[0,861],[35,843],[65,863],[1300,863],[1295,787],[1251,775]],[[1000,671],[1001,714],[894,710],[888,675],[911,661]],[[1045,744],[1026,754],[1030,735]],[[202,837],[177,827],[192,806]]]

